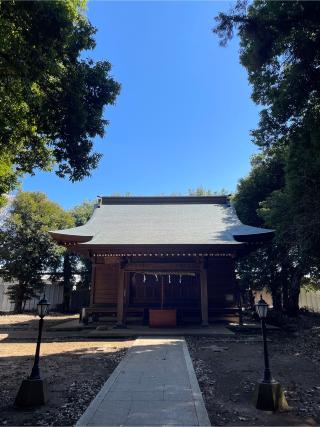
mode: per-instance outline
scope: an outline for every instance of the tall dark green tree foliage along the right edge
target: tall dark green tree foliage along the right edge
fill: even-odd
[[[238,1],[216,21],[222,45],[238,32],[252,98],[262,105],[252,132],[259,161],[240,181],[236,208],[244,222],[276,231],[273,249],[258,251],[239,269],[248,277],[251,265],[252,280],[260,269],[268,282],[263,266],[269,264],[281,304],[296,314],[303,276],[319,274],[320,3]]]

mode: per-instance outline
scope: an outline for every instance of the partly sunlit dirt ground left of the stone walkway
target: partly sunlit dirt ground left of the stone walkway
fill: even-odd
[[[46,329],[70,318],[48,316]],[[34,315],[0,316],[0,425],[73,425],[132,344],[44,331],[40,369],[48,382],[49,401],[43,407],[18,410],[13,402],[32,369],[37,326]]]

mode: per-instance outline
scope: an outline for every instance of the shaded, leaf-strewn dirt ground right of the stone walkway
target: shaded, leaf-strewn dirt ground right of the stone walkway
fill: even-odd
[[[320,424],[319,326],[296,336],[270,336],[271,372],[290,406],[282,413],[259,411],[252,404],[264,369],[259,335],[238,334],[232,340],[188,338],[187,342],[212,425]]]

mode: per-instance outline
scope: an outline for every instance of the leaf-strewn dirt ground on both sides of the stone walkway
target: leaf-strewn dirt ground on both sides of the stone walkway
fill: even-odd
[[[50,326],[74,317],[46,317],[41,372],[48,381],[49,401],[18,410],[13,401],[22,379],[30,375],[38,318],[0,316],[0,425],[73,425],[132,345],[131,340],[90,340],[79,338],[79,332],[50,331]],[[283,413],[258,411],[252,404],[255,384],[263,375],[259,335],[193,337],[187,342],[212,425],[320,425],[318,318],[297,334],[270,335],[272,374],[291,407]]]

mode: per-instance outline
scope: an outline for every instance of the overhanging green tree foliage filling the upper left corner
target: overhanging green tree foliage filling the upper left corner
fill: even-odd
[[[109,62],[81,58],[96,31],[84,4],[0,1],[0,195],[36,168],[76,181],[97,166],[92,139],[119,84]]]

